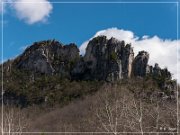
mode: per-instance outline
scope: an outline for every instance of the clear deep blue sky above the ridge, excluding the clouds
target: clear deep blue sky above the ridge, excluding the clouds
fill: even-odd
[[[97,31],[111,27],[137,36],[176,39],[175,4],[53,4],[46,22],[27,24],[14,10],[4,14],[4,58],[12,58],[34,41],[57,39],[81,45]]]

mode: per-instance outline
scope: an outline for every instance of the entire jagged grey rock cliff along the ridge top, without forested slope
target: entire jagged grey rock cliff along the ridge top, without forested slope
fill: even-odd
[[[48,40],[35,42],[22,55],[7,62],[5,72],[10,72],[13,67],[34,74],[56,74],[72,80],[117,81],[147,75],[171,80],[171,73],[167,69],[161,69],[158,64],[150,66],[148,60],[148,52],[140,51],[134,58],[131,45],[115,38],[95,37],[89,41],[83,57],[75,44],[63,45]]]

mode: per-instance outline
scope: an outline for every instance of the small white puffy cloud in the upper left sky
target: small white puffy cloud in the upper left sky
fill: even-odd
[[[17,17],[28,24],[45,22],[53,9],[48,0],[15,0],[11,7]]]

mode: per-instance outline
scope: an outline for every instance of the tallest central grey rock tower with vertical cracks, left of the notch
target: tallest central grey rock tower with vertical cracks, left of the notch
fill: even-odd
[[[94,79],[108,81],[130,77],[133,59],[131,45],[115,38],[108,40],[105,36],[92,39],[84,56],[88,74]]]

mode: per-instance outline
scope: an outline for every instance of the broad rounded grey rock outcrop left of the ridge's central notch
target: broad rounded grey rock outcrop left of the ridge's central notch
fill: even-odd
[[[15,59],[19,69],[41,74],[70,76],[70,70],[79,59],[79,49],[75,44],[63,45],[55,40],[35,42]]]

